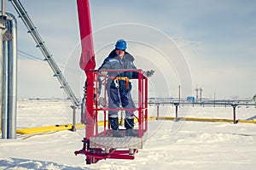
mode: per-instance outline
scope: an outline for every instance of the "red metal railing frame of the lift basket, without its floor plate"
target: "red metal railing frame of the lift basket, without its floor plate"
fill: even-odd
[[[86,73],[86,75],[89,75],[87,77],[87,94],[86,94],[86,104],[85,104],[85,111],[84,116],[82,119],[85,120],[85,138],[82,141],[84,143],[84,147],[82,150],[75,151],[75,155],[78,154],[84,154],[86,156],[86,163],[96,163],[97,161],[100,161],[102,159],[112,158],[112,159],[129,159],[133,160],[135,158],[135,154],[138,152],[137,149],[119,149],[119,148],[110,148],[108,152],[104,150],[103,148],[93,148],[90,147],[90,138],[91,137],[97,137],[99,135],[107,135],[109,132],[109,123],[107,125],[108,119],[107,119],[107,111],[137,111],[137,122],[138,122],[138,136],[137,138],[141,139],[143,138],[143,135],[148,131],[148,77],[145,77],[143,75],[142,70],[108,70],[108,72],[112,71],[136,71],[138,74],[137,77],[137,88],[138,88],[138,94],[137,94],[137,108],[135,109],[109,109],[107,108],[107,79],[108,77],[101,76],[101,71],[93,70]],[[104,86],[104,106],[100,107],[98,105],[98,96],[97,89],[98,89],[98,77],[103,77],[103,84]],[[98,112],[103,111],[104,114],[104,125],[103,125],[103,131],[98,131]]]

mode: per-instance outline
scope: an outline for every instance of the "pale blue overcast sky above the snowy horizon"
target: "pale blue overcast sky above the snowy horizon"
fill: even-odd
[[[79,69],[76,1],[21,3],[74,93],[81,97],[85,77]],[[43,60],[9,1],[6,8],[18,20],[18,49]],[[178,85],[184,96],[195,95],[195,88],[203,89],[203,97],[217,99],[256,94],[255,1],[91,0],[90,11],[97,67],[114,42],[125,38],[137,67],[156,71],[150,79],[150,95],[177,97]],[[49,65],[24,54],[18,53],[18,57],[18,97],[63,95]]]

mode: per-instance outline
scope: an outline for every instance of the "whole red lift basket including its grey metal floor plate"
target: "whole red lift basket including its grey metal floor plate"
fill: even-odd
[[[83,140],[84,147],[82,150],[75,151],[75,155],[84,154],[86,163],[96,163],[102,159],[130,159],[135,158],[138,149],[143,148],[143,144],[147,139],[148,130],[148,78],[143,75],[142,70],[108,70],[109,73],[115,73],[118,77],[122,71],[132,71],[137,75],[133,84],[137,83],[137,96],[132,96],[137,100],[136,108],[108,108],[107,82],[108,76],[103,76],[102,71],[90,71],[92,82],[86,82],[86,105],[84,114],[82,114],[82,122],[85,124],[85,138]],[[112,74],[113,75],[113,74]],[[113,79],[113,77],[111,77]],[[98,81],[102,81],[102,96],[98,98]],[[127,81],[128,82],[128,81]],[[92,94],[91,94],[92,93]],[[90,101],[89,101],[90,99]],[[91,102],[93,100],[93,103]],[[92,104],[92,105],[91,105]],[[113,137],[113,130],[110,129],[108,123],[108,111],[132,111],[137,122],[133,132],[135,135],[126,135],[125,129],[120,129],[124,137]],[[98,121],[103,121],[103,126],[99,126]],[[123,122],[121,120],[120,122]]]

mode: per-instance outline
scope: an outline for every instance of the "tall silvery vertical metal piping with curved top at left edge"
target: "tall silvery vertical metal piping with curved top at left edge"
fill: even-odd
[[[17,105],[17,42],[16,26],[17,21],[13,14],[7,14],[6,30],[1,32],[2,68],[1,73],[1,94],[2,94],[2,138],[16,138],[16,105]],[[3,38],[5,37],[5,38]]]

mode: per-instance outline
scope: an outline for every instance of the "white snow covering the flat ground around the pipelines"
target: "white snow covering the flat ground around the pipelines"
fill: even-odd
[[[17,128],[72,122],[67,100],[19,100]],[[174,116],[175,107],[160,105],[160,116]],[[240,107],[237,119],[256,116],[255,107]],[[79,122],[79,111],[77,121]],[[156,106],[149,107],[156,116]],[[180,116],[232,119],[232,107],[183,107]],[[229,122],[148,122],[148,140],[135,160],[103,160],[86,165],[84,129],[0,139],[0,169],[255,169],[256,125]]]

